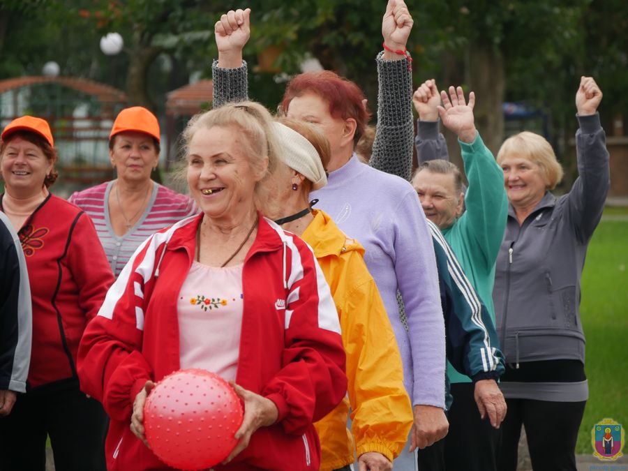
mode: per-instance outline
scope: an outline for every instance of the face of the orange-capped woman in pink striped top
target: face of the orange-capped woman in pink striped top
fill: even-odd
[[[109,156],[112,165],[116,167],[118,178],[128,181],[149,180],[159,161],[153,138],[148,134],[126,131],[115,135],[114,139]]]

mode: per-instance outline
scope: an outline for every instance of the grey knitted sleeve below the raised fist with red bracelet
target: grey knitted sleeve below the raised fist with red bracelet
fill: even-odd
[[[377,54],[377,131],[369,165],[410,181],[414,126],[412,70],[408,59],[384,61]]]

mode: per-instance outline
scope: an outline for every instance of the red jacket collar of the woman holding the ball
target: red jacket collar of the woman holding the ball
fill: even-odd
[[[194,216],[194,220],[190,224],[186,224],[179,230],[174,232],[172,239],[168,242],[166,250],[175,251],[183,248],[188,252],[188,256],[193,258],[195,250],[195,235],[197,227],[202,223],[204,214],[201,212]],[[251,250],[246,254],[246,260],[258,252],[273,252],[283,248],[283,241],[278,236],[276,229],[271,227],[271,223],[264,218],[260,212],[257,213],[260,223],[257,225],[257,235]],[[274,223],[272,223],[274,224]],[[281,230],[281,229],[280,229]]]

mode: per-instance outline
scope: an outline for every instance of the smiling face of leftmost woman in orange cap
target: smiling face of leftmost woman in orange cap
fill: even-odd
[[[10,137],[0,156],[0,173],[14,196],[30,196],[41,191],[52,162],[36,144],[19,135]]]

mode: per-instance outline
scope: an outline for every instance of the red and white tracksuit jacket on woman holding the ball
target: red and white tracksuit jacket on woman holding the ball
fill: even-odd
[[[202,214],[157,232],[137,249],[82,338],[84,392],[110,416],[108,470],[167,469],[130,431],[147,380],[179,369],[177,297],[195,254]],[[242,272],[244,314],[236,382],[278,408],[278,421],[216,470],[318,470],[312,426],[347,391],[338,313],[311,248],[260,216]]]

